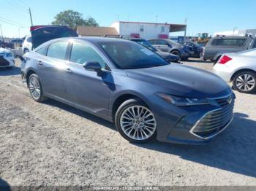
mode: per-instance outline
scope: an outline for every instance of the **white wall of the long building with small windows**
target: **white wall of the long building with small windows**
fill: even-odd
[[[162,32],[162,26],[165,27],[165,31]],[[140,34],[143,39],[158,38],[159,34],[169,35],[169,25],[165,24],[148,24],[148,23],[113,23],[112,27],[116,28],[119,35],[129,36],[130,34]],[[143,27],[143,31],[140,31],[140,27]]]

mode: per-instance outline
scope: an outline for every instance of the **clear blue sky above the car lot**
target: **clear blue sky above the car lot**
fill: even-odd
[[[0,0],[0,25],[4,36],[23,37],[34,25],[50,24],[61,11],[72,9],[94,17],[99,26],[117,20],[184,24],[187,35],[214,34],[233,28],[256,28],[256,0]],[[0,34],[1,35],[1,34]],[[170,34],[178,35],[178,34]],[[181,33],[184,35],[184,33]]]

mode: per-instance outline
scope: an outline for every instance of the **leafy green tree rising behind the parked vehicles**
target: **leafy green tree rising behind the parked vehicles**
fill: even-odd
[[[99,26],[94,18],[88,17],[87,19],[83,19],[82,13],[73,10],[60,12],[54,19],[52,25],[68,26],[74,30],[76,30],[78,26]]]

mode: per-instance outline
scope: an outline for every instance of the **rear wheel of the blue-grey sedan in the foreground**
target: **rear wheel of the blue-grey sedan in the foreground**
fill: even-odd
[[[31,74],[28,81],[29,93],[34,101],[45,101],[46,97],[42,92],[42,85],[37,74]]]

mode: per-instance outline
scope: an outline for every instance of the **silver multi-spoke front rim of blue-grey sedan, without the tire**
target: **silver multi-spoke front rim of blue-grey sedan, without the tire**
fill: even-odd
[[[154,114],[145,106],[129,106],[120,117],[121,129],[130,139],[149,139],[157,129]]]

